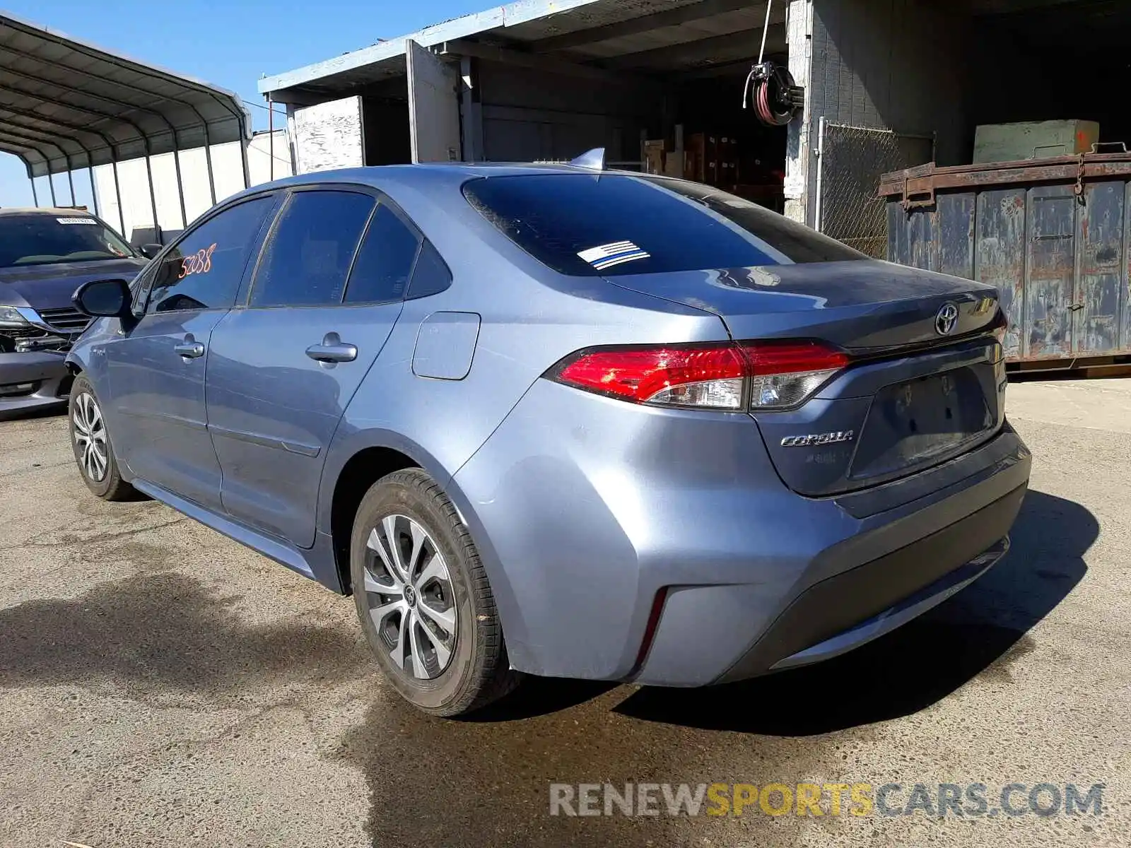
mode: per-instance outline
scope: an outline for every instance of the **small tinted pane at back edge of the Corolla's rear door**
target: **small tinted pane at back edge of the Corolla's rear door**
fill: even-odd
[[[416,233],[381,204],[349,272],[346,303],[388,303],[404,298],[418,248]]]

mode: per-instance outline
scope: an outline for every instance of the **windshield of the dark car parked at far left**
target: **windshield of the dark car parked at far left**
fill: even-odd
[[[97,261],[132,256],[133,250],[113,230],[92,215],[0,215],[0,267]]]

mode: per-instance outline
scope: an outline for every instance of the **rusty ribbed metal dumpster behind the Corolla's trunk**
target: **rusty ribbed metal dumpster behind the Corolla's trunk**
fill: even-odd
[[[998,286],[1013,363],[1128,362],[1129,192],[1125,152],[884,174],[888,258]]]

